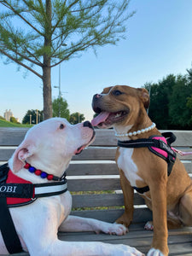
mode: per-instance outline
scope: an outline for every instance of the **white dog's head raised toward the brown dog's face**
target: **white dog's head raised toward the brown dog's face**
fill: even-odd
[[[44,172],[63,174],[74,154],[79,154],[95,139],[90,122],[70,125],[66,119],[47,119],[33,126],[9,160],[9,167],[18,172],[27,161]],[[58,173],[59,172],[59,173]]]

